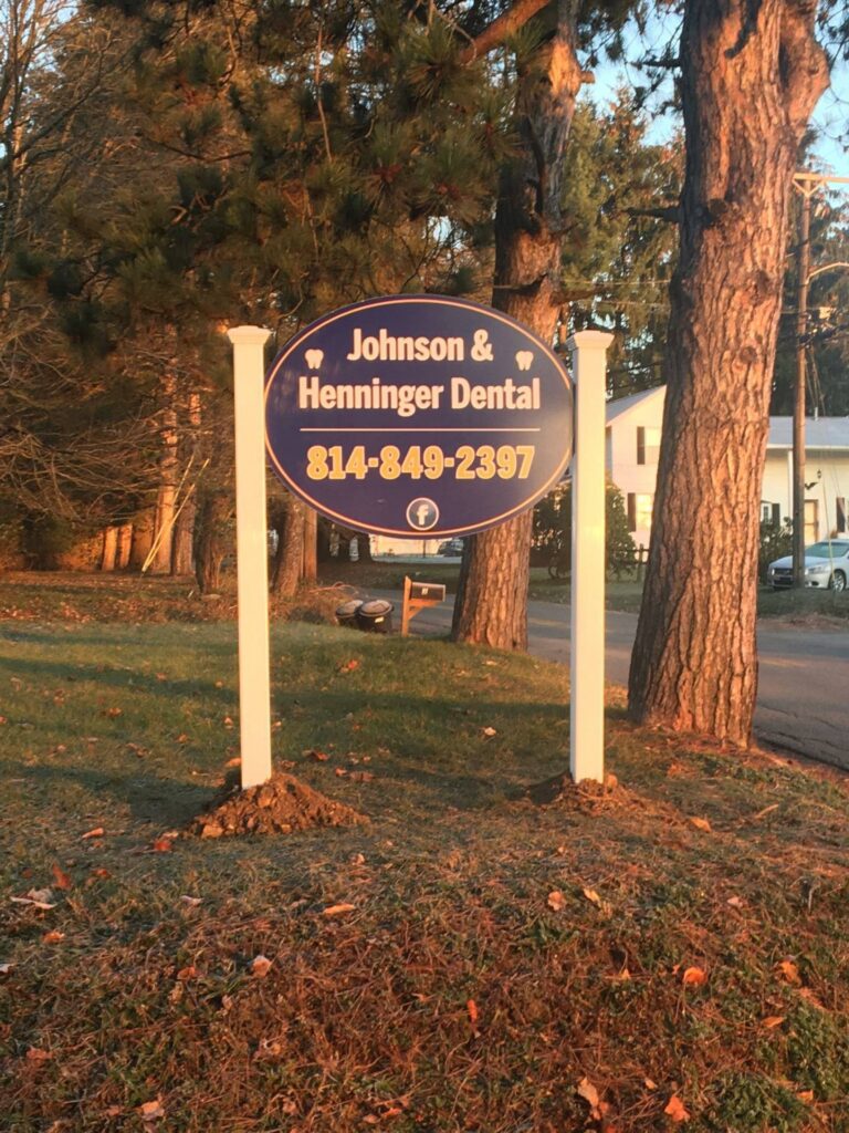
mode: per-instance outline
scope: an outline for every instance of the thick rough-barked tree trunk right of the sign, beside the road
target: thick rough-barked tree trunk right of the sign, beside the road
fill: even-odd
[[[827,86],[815,0],[688,0],[686,176],[629,705],[747,746],[758,503],[798,144]]]

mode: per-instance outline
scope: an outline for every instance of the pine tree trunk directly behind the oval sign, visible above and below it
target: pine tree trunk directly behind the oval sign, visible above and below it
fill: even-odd
[[[538,17],[555,34],[535,53],[517,102],[521,153],[505,169],[496,211],[492,306],[552,342],[559,313],[566,174],[564,151],[581,90],[576,0],[557,0]],[[499,649],[528,646],[529,511],[468,540],[452,637]]]

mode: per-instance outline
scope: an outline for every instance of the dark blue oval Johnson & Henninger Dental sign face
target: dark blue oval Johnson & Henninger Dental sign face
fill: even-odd
[[[292,492],[345,527],[471,535],[531,508],[572,452],[572,386],[515,320],[397,296],[334,310],[266,378],[266,446]]]

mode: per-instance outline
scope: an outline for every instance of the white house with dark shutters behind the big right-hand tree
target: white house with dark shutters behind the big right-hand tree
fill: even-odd
[[[649,545],[666,386],[610,401],[607,408],[607,468],[625,496],[634,542]],[[805,542],[847,533],[849,417],[805,423]],[[761,518],[792,516],[792,418],[771,417],[761,491]]]

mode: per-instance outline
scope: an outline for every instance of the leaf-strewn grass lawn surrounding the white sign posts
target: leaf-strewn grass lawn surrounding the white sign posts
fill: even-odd
[[[3,1133],[849,1130],[846,780],[614,702],[619,785],[540,807],[563,670],[298,623],[273,661],[278,765],[369,826],[181,833],[232,624],[0,624]]]

